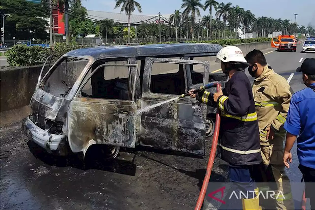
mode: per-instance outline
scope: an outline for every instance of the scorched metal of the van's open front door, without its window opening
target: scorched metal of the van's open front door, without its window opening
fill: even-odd
[[[107,59],[105,59],[106,62]],[[111,61],[111,60],[109,60]],[[106,98],[87,98],[82,97],[82,88],[91,79],[92,75],[101,67],[129,67],[129,91],[131,92],[130,100],[117,100],[117,99],[106,99]],[[93,67],[91,65],[90,69]],[[89,71],[88,71],[89,72]],[[136,144],[136,99],[135,99],[135,89],[136,85],[139,84],[138,76],[138,65],[130,64],[100,64],[97,66],[93,72],[86,75],[86,77],[80,83],[75,97],[73,97],[67,112],[67,123],[68,123],[68,142],[72,152],[83,152],[85,154],[86,150],[90,145],[95,143],[108,144],[113,146],[122,146],[127,148],[135,148]],[[106,106],[111,106],[111,108]],[[98,110],[93,110],[93,107],[97,107]],[[128,109],[128,110],[127,110]],[[77,113],[76,113],[77,112]],[[79,119],[81,113],[85,114],[84,119]],[[89,117],[92,115],[92,117]],[[106,116],[112,116],[116,121],[106,121]],[[103,116],[103,117],[101,117]],[[79,125],[78,121],[81,120],[83,125]],[[89,121],[96,123],[88,123]],[[86,123],[86,124],[85,124]],[[90,127],[89,127],[90,126]],[[105,126],[105,127],[104,127]],[[84,129],[85,127],[88,127]],[[119,127],[121,132],[116,132],[120,135],[117,138],[111,139],[100,139],[105,137],[107,133],[115,134],[116,127]],[[82,129],[83,128],[83,129]],[[111,128],[111,129],[110,129]],[[83,131],[85,130],[85,131]],[[79,133],[79,134],[76,134]],[[113,134],[113,135],[114,135]],[[115,135],[116,135],[115,134]],[[114,135],[114,136],[115,136]],[[82,137],[81,137],[82,136]],[[118,139],[119,138],[119,139]]]

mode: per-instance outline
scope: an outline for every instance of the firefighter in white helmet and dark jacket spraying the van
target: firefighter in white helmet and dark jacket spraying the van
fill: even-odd
[[[228,76],[225,88],[219,93],[189,91],[192,98],[218,107],[221,111],[221,159],[229,163],[230,181],[243,192],[257,192],[254,182],[255,166],[261,163],[257,114],[243,52],[236,46],[226,46],[216,55],[222,71]],[[243,209],[260,209],[257,193],[242,198]],[[237,209],[237,208],[233,208]]]

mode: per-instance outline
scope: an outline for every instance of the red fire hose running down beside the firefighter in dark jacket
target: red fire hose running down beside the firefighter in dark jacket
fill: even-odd
[[[220,87],[221,85],[219,83],[216,83],[217,86],[217,92],[220,91]],[[217,108],[217,113],[216,113],[216,117],[215,117],[215,131],[213,134],[213,139],[212,139],[212,146],[211,146],[211,151],[210,151],[210,156],[209,156],[209,160],[208,160],[208,166],[207,166],[207,170],[206,170],[206,175],[204,176],[203,179],[203,184],[202,184],[202,188],[199,194],[199,198],[195,207],[195,210],[200,210],[201,206],[203,204],[203,200],[204,200],[204,196],[206,194],[206,190],[208,187],[208,183],[209,183],[209,179],[210,179],[210,175],[211,175],[211,171],[212,171],[212,166],[213,166],[213,162],[215,160],[215,152],[216,152],[216,148],[218,145],[218,138],[219,138],[219,130],[220,130],[220,110],[219,108]]]

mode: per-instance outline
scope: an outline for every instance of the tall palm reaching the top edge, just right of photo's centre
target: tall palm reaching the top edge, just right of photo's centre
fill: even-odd
[[[192,40],[194,40],[194,26],[195,26],[195,18],[196,14],[200,16],[200,9],[203,9],[203,4],[200,2],[201,0],[182,0],[181,9],[185,8],[183,14],[189,15],[191,14],[192,20]],[[200,9],[199,9],[200,8]]]

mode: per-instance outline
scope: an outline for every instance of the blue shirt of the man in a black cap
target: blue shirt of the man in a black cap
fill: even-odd
[[[315,87],[315,83],[312,84]],[[297,138],[300,164],[315,169],[315,91],[305,88],[292,95],[284,129]]]

